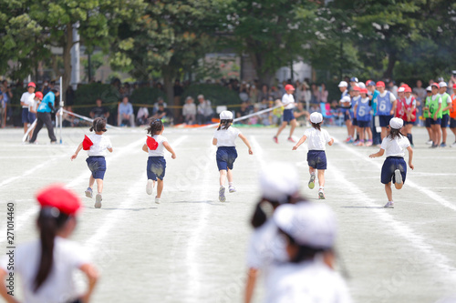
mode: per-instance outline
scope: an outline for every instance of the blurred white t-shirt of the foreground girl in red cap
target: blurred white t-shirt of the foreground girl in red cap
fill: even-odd
[[[78,243],[63,237],[56,237],[54,243],[51,272],[37,292],[34,292],[34,281],[41,257],[40,240],[16,247],[14,272],[21,277],[24,302],[63,303],[73,301],[81,295],[75,287],[73,274],[75,269],[88,264],[87,253]],[[8,258],[2,258],[0,268],[8,272],[7,263]]]

